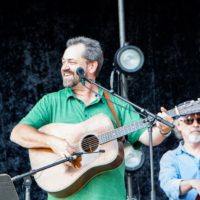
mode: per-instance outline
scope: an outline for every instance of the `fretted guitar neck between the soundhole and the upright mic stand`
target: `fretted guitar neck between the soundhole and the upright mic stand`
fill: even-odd
[[[119,128],[116,128],[114,130],[111,130],[107,133],[104,133],[98,137],[99,143],[104,144],[109,141],[115,140],[117,138],[120,138],[124,135],[127,135],[128,133],[137,131],[139,129],[147,127],[148,123],[145,121],[145,119],[133,122],[130,125],[125,125]]]

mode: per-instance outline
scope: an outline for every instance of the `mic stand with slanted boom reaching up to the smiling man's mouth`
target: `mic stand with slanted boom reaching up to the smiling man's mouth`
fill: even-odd
[[[155,121],[159,121],[163,124],[165,124],[166,126],[169,126],[170,128],[174,128],[174,124],[168,122],[167,120],[163,119],[162,117],[155,115],[151,112],[149,112],[148,110],[130,102],[127,99],[124,99],[123,97],[119,96],[118,94],[116,94],[113,90],[109,91],[108,89],[106,89],[105,87],[97,84],[95,81],[91,80],[91,79],[87,79],[86,77],[80,77],[81,81],[82,80],[86,80],[87,82],[89,82],[90,84],[94,84],[99,88],[102,88],[103,90],[106,90],[107,92],[111,93],[113,96],[121,99],[122,101],[132,105],[135,109],[139,110],[139,113],[141,113],[143,116],[147,116],[147,119],[149,120],[149,126],[148,126],[148,132],[149,132],[149,153],[150,153],[150,170],[151,170],[151,200],[156,200],[156,196],[155,196],[155,186],[154,186],[154,171],[153,171],[153,142],[152,142],[152,127]],[[99,95],[99,93],[96,93],[99,97],[101,97]]]

